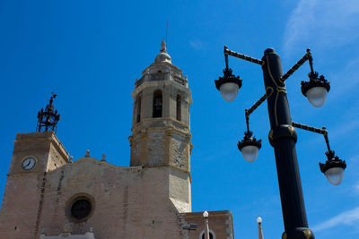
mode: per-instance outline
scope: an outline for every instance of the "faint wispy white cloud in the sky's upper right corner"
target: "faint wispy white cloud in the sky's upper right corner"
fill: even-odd
[[[359,1],[301,0],[285,29],[285,50],[298,44],[345,45],[359,38]]]

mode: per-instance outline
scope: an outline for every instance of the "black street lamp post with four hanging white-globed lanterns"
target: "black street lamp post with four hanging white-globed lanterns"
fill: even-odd
[[[282,238],[313,239],[314,235],[311,229],[308,228],[302,196],[302,184],[295,152],[297,133],[294,127],[323,134],[328,147],[328,152],[326,153],[328,160],[325,164],[320,163],[320,171],[327,176],[331,184],[337,185],[343,180],[346,161],[337,158],[334,151],[330,150],[328,131],[325,128],[314,128],[292,122],[285,90],[285,80],[308,60],[311,66],[310,81],[302,81],[302,94],[308,98],[314,107],[321,107],[324,104],[330,90],[329,82],[325,80],[324,76],[320,75],[318,77],[318,73],[314,72],[310,49],[307,49],[306,54],[297,64],[294,64],[287,73],[283,74],[280,57],[272,48],[265,50],[262,59],[258,60],[224,47],[224,75],[215,80],[215,87],[221,91],[223,98],[227,101],[234,100],[238,90],[241,88],[240,77],[234,76],[232,69],[228,67],[228,55],[259,64],[262,67],[266,90],[266,93],[252,107],[245,110],[247,131],[244,133],[243,140],[238,142],[238,149],[241,150],[243,158],[249,162],[257,158],[261,141],[252,136],[250,114],[267,100],[271,128],[268,138],[276,155],[276,170],[285,224],[285,232]]]

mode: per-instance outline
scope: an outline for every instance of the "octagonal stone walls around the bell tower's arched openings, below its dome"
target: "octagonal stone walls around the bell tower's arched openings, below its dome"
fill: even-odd
[[[162,90],[162,117],[153,118],[153,92]],[[144,82],[133,93],[134,107],[137,95],[141,95],[141,121],[136,122],[134,110],[131,146],[131,166],[153,166],[172,164],[189,169],[190,132],[189,105],[190,92],[173,81]],[[181,96],[181,121],[176,119],[176,97]],[[175,131],[176,133],[165,133]],[[176,163],[176,162],[180,162]],[[183,167],[181,167],[183,168]]]

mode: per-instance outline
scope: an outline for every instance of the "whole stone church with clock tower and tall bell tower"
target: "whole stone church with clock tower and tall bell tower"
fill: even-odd
[[[191,92],[164,41],[132,97],[130,166],[89,151],[69,157],[55,133],[56,95],[39,111],[37,132],[16,134],[1,239],[205,238],[203,212],[191,209]],[[209,211],[208,221],[210,239],[233,238],[229,210]]]

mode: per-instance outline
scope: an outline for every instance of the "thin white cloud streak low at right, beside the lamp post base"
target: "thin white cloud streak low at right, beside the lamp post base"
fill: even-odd
[[[359,222],[359,207],[355,209],[347,210],[336,217],[330,218],[327,221],[320,223],[319,225],[313,226],[314,232],[319,232],[334,226],[351,226]]]

